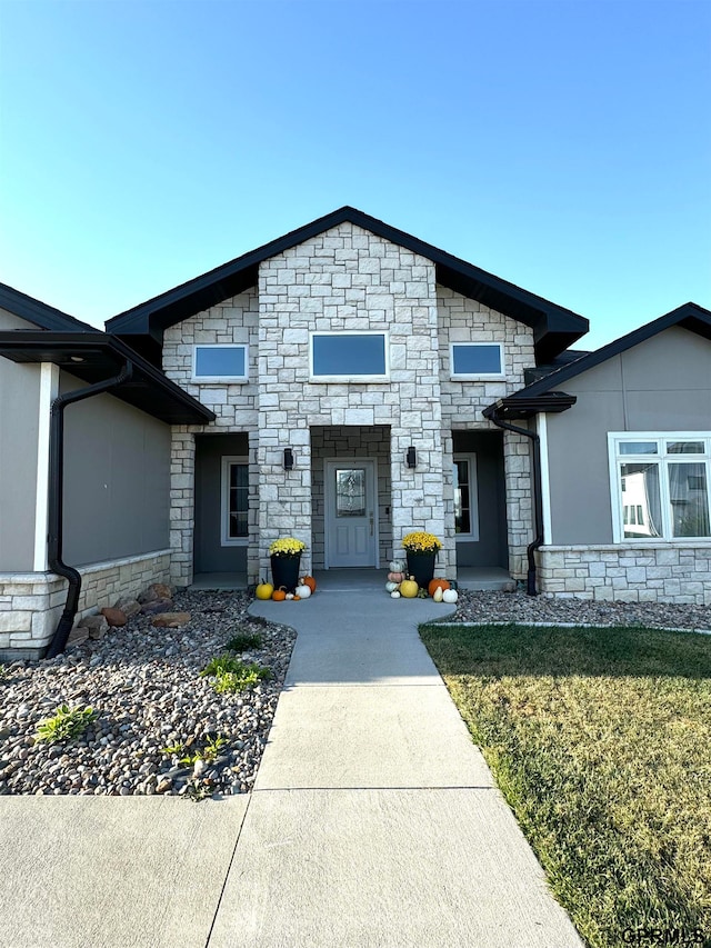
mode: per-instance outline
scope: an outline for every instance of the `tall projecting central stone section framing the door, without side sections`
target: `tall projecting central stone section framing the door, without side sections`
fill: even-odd
[[[393,542],[411,529],[444,539],[454,565],[453,523],[445,529],[434,266],[382,238],[342,223],[260,265],[259,536],[312,542],[314,426],[390,426]],[[309,380],[309,332],[361,329],[390,338],[387,383]],[[418,467],[409,470],[410,445]],[[294,449],[293,471],[282,466]],[[312,568],[312,550],[303,566]]]

